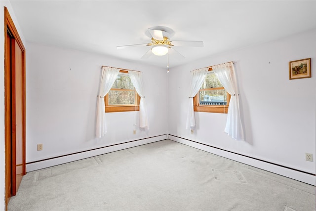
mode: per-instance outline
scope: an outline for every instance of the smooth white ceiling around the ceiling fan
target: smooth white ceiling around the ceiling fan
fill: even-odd
[[[269,42],[316,28],[316,1],[304,0],[11,0],[28,42],[95,52],[166,67],[167,56],[140,59],[153,26],[166,26],[170,40],[203,41],[204,47],[175,47],[170,68],[198,58]]]

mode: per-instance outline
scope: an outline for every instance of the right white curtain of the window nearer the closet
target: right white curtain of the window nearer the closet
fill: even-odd
[[[139,104],[139,127],[149,129],[148,117],[145,103],[145,89],[143,85],[142,73],[138,71],[128,71],[130,80],[132,81],[138,95],[140,96]]]

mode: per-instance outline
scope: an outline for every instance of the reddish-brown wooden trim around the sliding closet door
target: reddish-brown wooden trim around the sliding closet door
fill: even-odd
[[[12,188],[12,190],[14,190],[14,192],[12,193],[8,193],[7,186],[8,186],[8,179],[6,178],[7,175],[7,171],[11,170],[14,168],[16,168],[16,164],[13,163],[12,161],[14,161],[15,159],[11,159],[12,161],[8,161],[7,159],[7,151],[10,150],[11,152],[15,152],[15,144],[11,145],[11,108],[8,108],[8,106],[11,106],[11,67],[8,67],[6,65],[7,59],[7,42],[11,42],[11,39],[8,40],[7,39],[7,32],[10,32],[10,35],[12,36],[12,39],[14,39],[16,41],[16,43],[19,45],[21,51],[22,51],[22,159],[23,159],[23,164],[22,164],[22,174],[25,175],[26,174],[26,153],[25,153],[25,131],[26,131],[26,100],[25,100],[25,96],[26,96],[26,83],[25,83],[25,47],[23,45],[23,42],[19,36],[19,33],[13,23],[13,20],[9,14],[9,11],[6,7],[4,7],[4,127],[5,127],[5,209],[7,210],[7,204],[9,201],[9,198],[13,195],[16,195],[16,189]],[[11,153],[12,156],[12,153]],[[15,177],[15,175],[11,175],[12,177]],[[13,183],[13,181],[15,181],[15,179],[11,179],[11,182]],[[13,185],[13,184],[12,184]]]

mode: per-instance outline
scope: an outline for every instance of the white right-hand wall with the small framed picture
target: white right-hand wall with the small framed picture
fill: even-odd
[[[169,134],[315,174],[316,30],[170,70]],[[289,80],[288,62],[311,58],[312,78]],[[195,112],[185,129],[190,71],[235,61],[245,141],[223,132],[227,114]],[[314,162],[305,161],[312,153]]]

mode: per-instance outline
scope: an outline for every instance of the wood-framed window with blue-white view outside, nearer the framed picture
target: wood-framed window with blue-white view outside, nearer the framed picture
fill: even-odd
[[[209,68],[202,87],[193,98],[194,111],[227,113],[230,98],[231,95]]]

